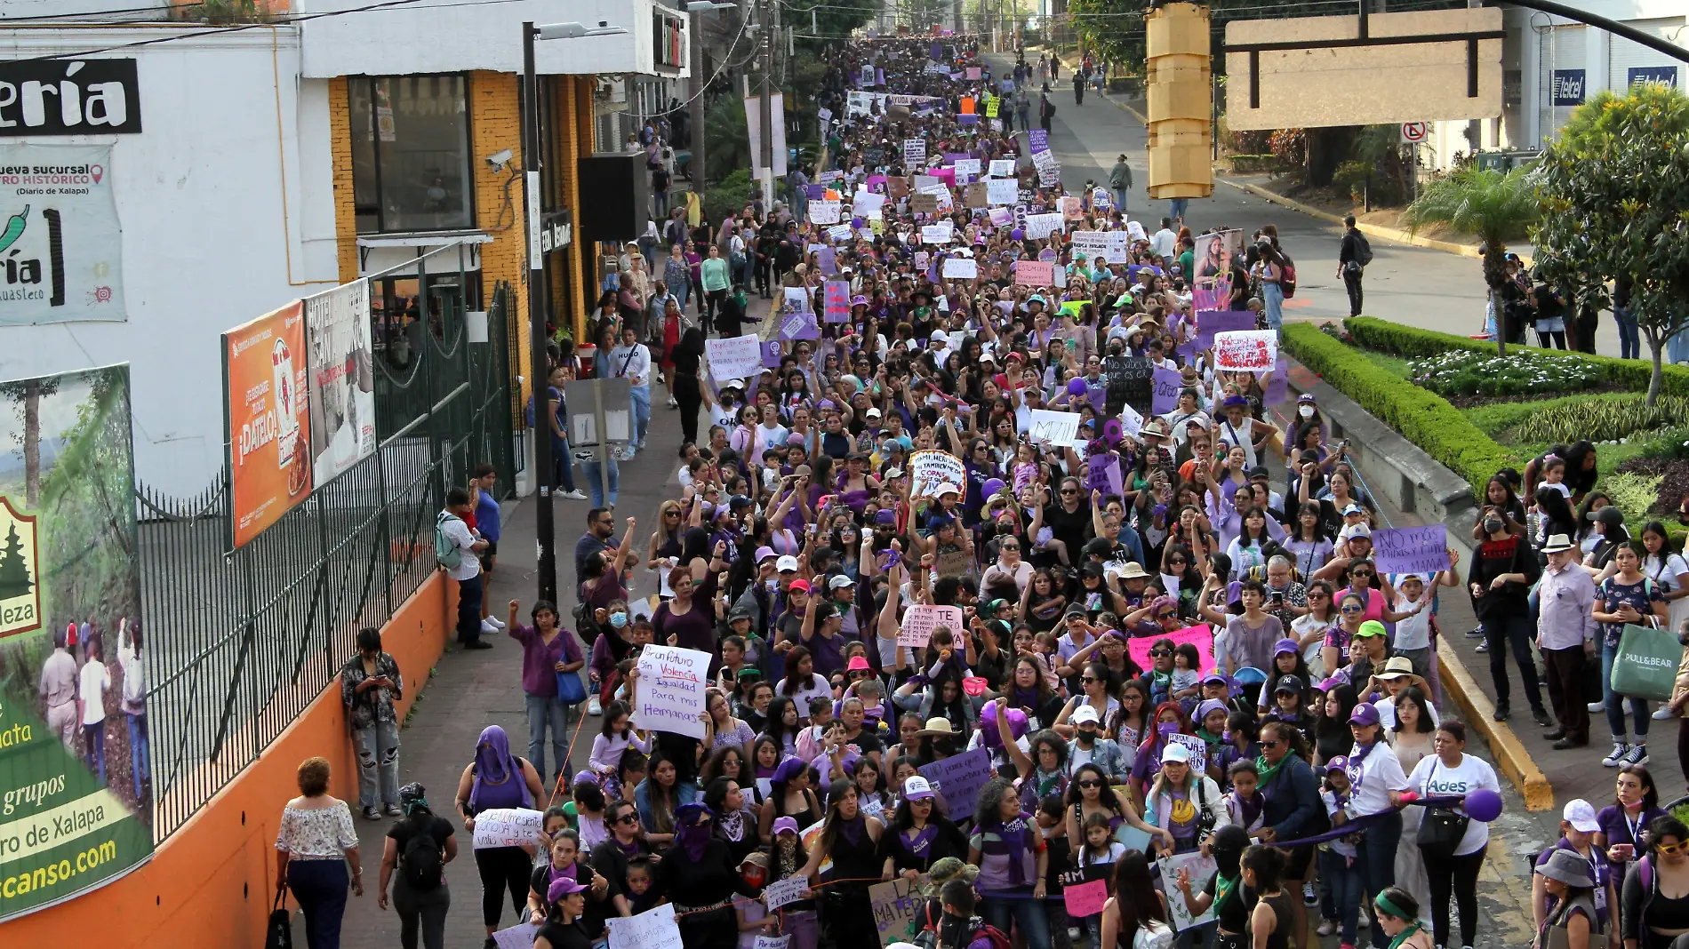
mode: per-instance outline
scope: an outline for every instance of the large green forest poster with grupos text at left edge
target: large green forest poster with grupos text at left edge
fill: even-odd
[[[0,383],[0,924],[152,854],[128,366]]]

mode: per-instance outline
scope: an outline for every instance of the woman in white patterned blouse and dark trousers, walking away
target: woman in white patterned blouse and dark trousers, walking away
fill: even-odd
[[[306,914],[307,949],[339,949],[348,865],[351,892],[363,895],[363,865],[351,809],[328,792],[328,758],[299,763],[299,797],[282,809],[282,827],[275,834],[277,898],[294,892]]]

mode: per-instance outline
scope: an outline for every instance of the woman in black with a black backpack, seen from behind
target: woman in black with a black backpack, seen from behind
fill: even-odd
[[[387,831],[382,851],[382,885],[375,903],[387,908],[387,885],[394,887],[394,910],[399,914],[399,944],[417,949],[417,930],[426,949],[446,946],[446,865],[458,858],[458,836],[451,821],[436,816],[421,784],[399,789],[404,817]],[[399,873],[394,873],[394,870]]]

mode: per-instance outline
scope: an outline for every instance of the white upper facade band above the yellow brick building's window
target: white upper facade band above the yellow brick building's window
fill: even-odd
[[[513,0],[463,3],[421,0],[343,17],[306,20],[304,74],[407,76],[412,73],[522,71],[522,24],[605,22],[627,34],[557,39],[535,44],[535,68],[544,74],[647,73],[657,74],[652,51],[654,0]],[[665,3],[674,7],[672,3]],[[368,0],[297,0],[296,10],[326,12],[368,7]],[[691,37],[687,35],[687,41]],[[684,57],[682,62],[689,62]],[[686,76],[687,68],[664,69]]]

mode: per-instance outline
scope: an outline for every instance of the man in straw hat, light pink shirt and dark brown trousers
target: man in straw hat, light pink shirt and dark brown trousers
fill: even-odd
[[[1351,218],[1353,220],[1353,218]],[[1578,547],[1564,534],[1542,545],[1549,566],[1537,586],[1537,652],[1549,679],[1549,704],[1559,726],[1542,738],[1556,748],[1589,743],[1589,708],[1584,704],[1583,669],[1594,655],[1599,628],[1591,613],[1594,579],[1578,564]]]

